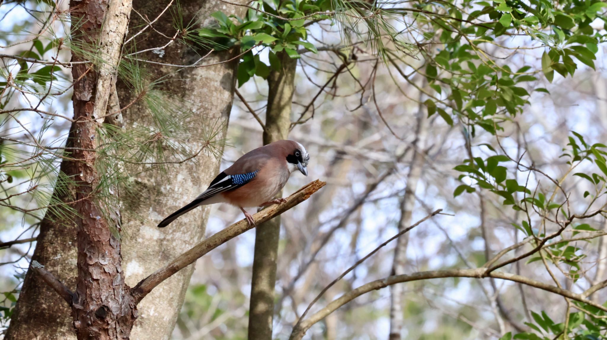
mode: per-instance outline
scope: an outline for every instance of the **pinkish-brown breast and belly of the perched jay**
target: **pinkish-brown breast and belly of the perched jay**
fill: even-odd
[[[222,193],[226,202],[237,207],[259,207],[274,199],[289,179],[287,159],[271,158],[259,169],[259,173],[240,188]]]

